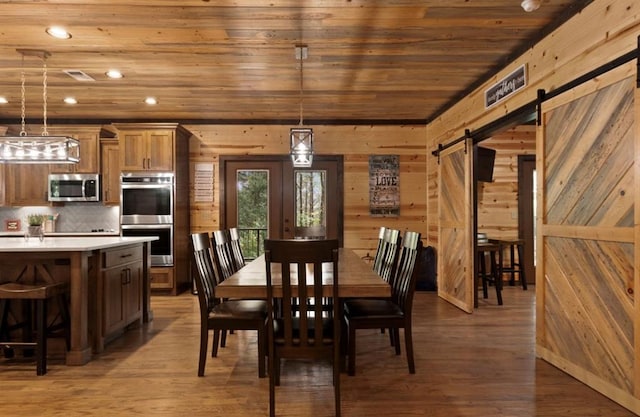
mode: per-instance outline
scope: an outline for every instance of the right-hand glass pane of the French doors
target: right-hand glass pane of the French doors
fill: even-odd
[[[326,171],[295,171],[295,237],[324,238],[327,227]]]

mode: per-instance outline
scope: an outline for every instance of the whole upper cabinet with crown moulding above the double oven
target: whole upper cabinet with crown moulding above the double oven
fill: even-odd
[[[176,143],[188,140],[177,124],[117,124],[122,171],[174,172]]]

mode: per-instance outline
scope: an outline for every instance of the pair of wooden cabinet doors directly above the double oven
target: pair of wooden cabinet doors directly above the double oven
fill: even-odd
[[[127,130],[120,134],[122,171],[172,172],[174,129]]]

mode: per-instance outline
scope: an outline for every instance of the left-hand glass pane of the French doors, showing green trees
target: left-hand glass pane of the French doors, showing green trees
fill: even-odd
[[[255,259],[264,253],[263,242],[268,237],[269,171],[236,171],[237,227],[240,247],[245,259]]]

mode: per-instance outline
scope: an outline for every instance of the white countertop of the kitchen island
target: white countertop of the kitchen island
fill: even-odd
[[[107,249],[132,243],[143,243],[158,240],[155,236],[121,237],[121,236],[78,236],[52,237],[45,236],[43,241],[37,237],[6,237],[0,239],[0,252],[65,252],[91,251]]]

